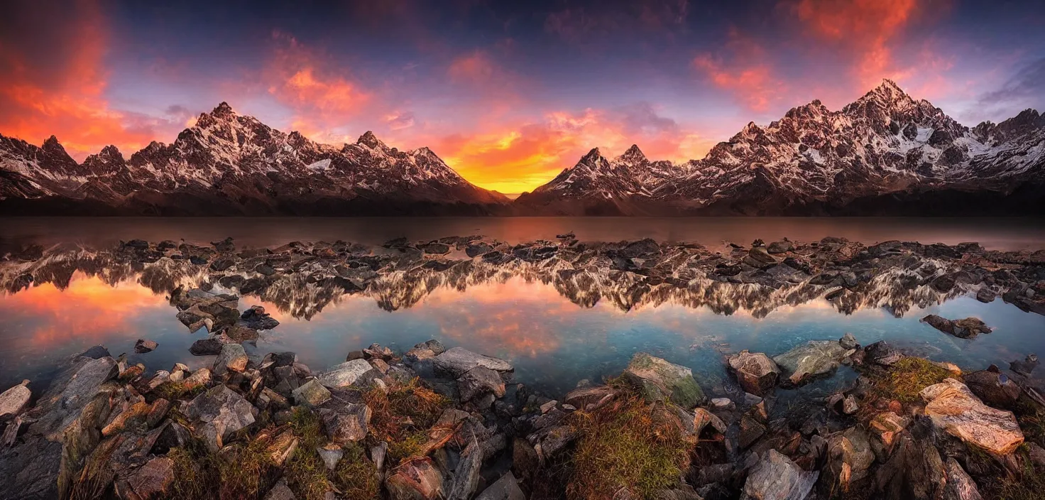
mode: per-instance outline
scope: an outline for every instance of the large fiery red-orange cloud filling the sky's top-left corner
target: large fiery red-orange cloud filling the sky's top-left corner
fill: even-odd
[[[134,126],[135,117],[110,109],[103,96],[108,38],[98,4],[79,1],[68,13],[53,13],[46,5],[32,8],[53,25],[0,50],[0,67],[6,68],[0,72],[0,133],[36,144],[56,135],[78,160],[111,143],[129,151],[153,140],[147,123]],[[66,16],[72,16],[68,23],[59,21]],[[46,70],[39,69],[34,51],[55,52],[47,54]]]

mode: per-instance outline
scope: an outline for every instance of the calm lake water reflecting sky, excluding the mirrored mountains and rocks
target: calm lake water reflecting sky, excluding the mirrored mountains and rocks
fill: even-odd
[[[243,246],[274,246],[287,241],[347,240],[380,243],[391,237],[426,240],[452,234],[483,233],[510,242],[551,237],[573,230],[580,238],[631,240],[651,236],[709,244],[750,243],[783,237],[818,240],[842,235],[866,243],[913,240],[923,243],[978,241],[988,248],[1045,248],[1042,225],[1030,221],[973,220],[635,220],[635,219],[451,219],[451,220],[41,220],[2,221],[0,247],[25,243],[101,244],[141,237],[207,242],[232,235]],[[62,281],[62,280],[55,280]],[[212,358],[192,357],[188,347],[207,334],[190,334],[175,315],[164,294],[143,285],[140,272],[117,275],[106,269],[76,271],[68,286],[40,283],[0,295],[0,386],[23,378],[46,381],[62,359],[96,344],[113,355],[127,353],[132,362],[149,370],[169,369],[175,362],[190,367],[209,365]],[[280,321],[261,333],[249,351],[263,355],[293,350],[314,370],[343,362],[349,350],[379,342],[397,350],[439,339],[448,347],[511,360],[515,380],[552,395],[578,381],[598,381],[620,372],[640,350],[689,366],[711,393],[721,393],[726,379],[725,354],[740,349],[784,353],[808,340],[837,339],[853,333],[861,344],[888,340],[930,359],[980,369],[1030,353],[1045,355],[1045,317],[1024,313],[996,300],[981,303],[961,296],[925,308],[911,306],[901,317],[884,308],[842,314],[818,298],[769,311],[737,304],[733,314],[716,314],[682,299],[623,311],[610,300],[578,305],[553,285],[507,276],[461,290],[434,283],[407,305],[389,305],[381,292],[344,295],[320,311],[245,297],[240,309],[264,305]],[[293,305],[293,304],[292,304]],[[948,318],[977,316],[995,328],[990,335],[963,340],[943,334],[919,319],[927,314]],[[139,338],[159,342],[153,353],[134,354]],[[813,389],[831,390],[852,378],[840,376]],[[41,390],[42,382],[33,384]]]

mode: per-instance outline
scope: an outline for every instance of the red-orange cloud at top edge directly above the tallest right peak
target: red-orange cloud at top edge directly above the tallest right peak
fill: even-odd
[[[814,37],[853,52],[852,71],[862,88],[911,73],[909,68],[897,67],[891,43],[921,8],[919,0],[799,0],[794,5]]]

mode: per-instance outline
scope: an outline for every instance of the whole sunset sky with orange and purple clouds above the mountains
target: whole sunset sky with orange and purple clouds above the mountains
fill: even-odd
[[[972,127],[1045,110],[1045,2],[5,2],[0,134],[77,160],[237,112],[431,147],[531,190],[591,147],[698,159],[749,121],[897,82]]]

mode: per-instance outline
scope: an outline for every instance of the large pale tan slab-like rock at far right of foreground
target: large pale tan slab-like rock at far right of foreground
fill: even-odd
[[[995,455],[1007,455],[1023,444],[1023,433],[1011,411],[984,405],[965,384],[947,379],[922,389],[925,414],[932,424],[969,445]]]

